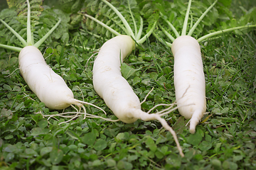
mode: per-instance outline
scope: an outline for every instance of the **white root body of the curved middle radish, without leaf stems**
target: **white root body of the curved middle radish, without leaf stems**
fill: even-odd
[[[121,62],[134,48],[134,41],[128,35],[118,35],[102,45],[93,66],[93,86],[112,110],[114,115],[124,123],[134,123],[137,119],[144,121],[159,120],[174,136],[178,150],[183,157],[176,133],[166,120],[158,113],[146,113],[141,110],[139,98],[120,72]]]

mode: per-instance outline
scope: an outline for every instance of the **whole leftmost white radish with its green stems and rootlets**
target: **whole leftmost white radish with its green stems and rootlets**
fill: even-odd
[[[81,108],[83,108],[85,111],[85,107],[82,104],[95,106],[91,103],[78,101],[75,99],[73,92],[68,88],[67,84],[65,84],[63,78],[58,74],[55,74],[55,72],[50,69],[50,67],[46,64],[43,55],[38,50],[38,47],[46,40],[46,38],[48,38],[51,33],[53,33],[53,30],[58,27],[60,21],[58,21],[58,23],[56,23],[55,26],[53,26],[53,28],[51,28],[48,33],[43,36],[43,38],[41,38],[41,40],[38,40],[38,42],[34,44],[31,33],[31,7],[29,1],[27,0],[26,2],[28,5],[27,42],[6,22],[0,19],[1,23],[4,23],[4,25],[9,28],[9,30],[16,35],[24,46],[21,48],[10,45],[0,45],[0,47],[20,52],[18,55],[18,65],[21,75],[28,84],[29,88],[36,94],[36,96],[38,96],[41,102],[45,103],[48,108],[64,109],[70,105],[75,105],[79,108],[79,111],[76,112],[78,115]],[[99,108],[97,106],[95,107]],[[99,109],[102,110],[101,108]],[[84,114],[86,114],[86,111]],[[77,115],[75,115],[75,117]]]

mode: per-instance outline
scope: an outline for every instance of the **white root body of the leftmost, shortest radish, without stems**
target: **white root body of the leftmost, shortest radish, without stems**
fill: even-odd
[[[48,108],[63,109],[71,104],[81,106],[62,77],[53,72],[38,48],[23,47],[18,55],[18,64],[23,79],[33,93]]]

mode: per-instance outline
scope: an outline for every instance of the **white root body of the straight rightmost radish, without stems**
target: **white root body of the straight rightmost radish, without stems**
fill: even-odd
[[[201,48],[198,41],[188,35],[174,40],[171,51],[174,54],[174,86],[178,111],[190,119],[190,132],[206,113],[206,82],[203,73]]]

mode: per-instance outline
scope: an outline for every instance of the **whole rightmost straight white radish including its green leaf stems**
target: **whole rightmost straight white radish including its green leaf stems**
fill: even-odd
[[[200,122],[201,118],[203,118],[203,115],[206,113],[206,82],[203,73],[203,62],[201,59],[201,47],[198,42],[232,30],[252,28],[256,26],[247,25],[228,28],[225,30],[218,30],[213,33],[208,33],[207,35],[204,35],[196,40],[191,35],[193,34],[194,30],[196,30],[198,24],[201,23],[203,18],[207,15],[207,13],[213,8],[213,6],[215,6],[217,1],[218,0],[214,1],[213,4],[206,8],[206,11],[202,12],[201,16],[196,20],[193,18],[193,15],[190,16],[192,1],[189,0],[186,16],[183,21],[181,35],[178,33],[178,30],[176,30],[172,23],[167,19],[168,17],[164,16],[164,14],[160,12],[164,23],[159,23],[158,26],[161,29],[161,32],[166,35],[166,38],[173,42],[170,43],[165,41],[164,44],[171,47],[171,51],[174,55],[174,87],[178,111],[186,119],[191,119],[189,128],[191,133],[196,132],[196,125]],[[167,11],[168,10],[169,9],[167,9]],[[189,18],[191,18],[191,21],[188,33],[186,33]],[[174,21],[176,20],[174,19]],[[178,23],[174,21],[174,24]],[[166,24],[166,26],[168,26],[174,32],[174,34],[168,33],[166,28],[163,26],[164,24]],[[198,33],[201,33],[200,29],[198,30]],[[159,35],[156,33],[154,33],[154,35],[162,42],[162,39],[159,38]],[[174,38],[173,35],[175,35],[176,38]],[[181,105],[187,104],[191,105],[181,107]]]

